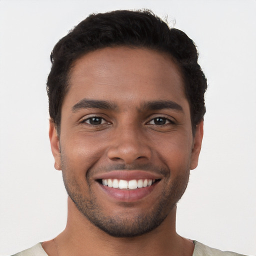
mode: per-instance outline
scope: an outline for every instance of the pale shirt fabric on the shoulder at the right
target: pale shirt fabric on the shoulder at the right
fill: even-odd
[[[197,241],[193,241],[193,243],[194,252],[192,256],[245,256],[232,251],[214,249]]]

